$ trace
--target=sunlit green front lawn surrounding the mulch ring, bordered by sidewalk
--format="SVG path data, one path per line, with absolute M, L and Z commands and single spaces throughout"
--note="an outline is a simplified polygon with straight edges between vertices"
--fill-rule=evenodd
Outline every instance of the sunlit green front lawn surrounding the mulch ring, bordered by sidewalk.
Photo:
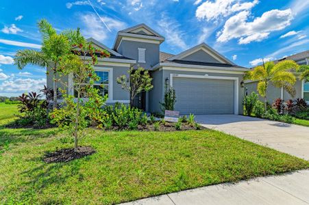
M 218 131 L 89 129 L 80 144 L 97 152 L 47 164 L 45 152 L 73 146 L 70 137 L 57 128 L 0 126 L 0 204 L 115 204 L 309 168 L 308 161 Z

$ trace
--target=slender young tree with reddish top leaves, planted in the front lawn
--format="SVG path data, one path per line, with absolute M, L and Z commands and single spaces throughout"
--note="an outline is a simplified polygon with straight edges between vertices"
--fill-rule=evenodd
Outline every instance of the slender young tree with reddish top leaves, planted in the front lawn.
M 66 55 L 60 61 L 59 72 L 62 75 L 73 73 L 73 84 L 75 96 L 66 94 L 62 90 L 64 103 L 60 109 L 50 113 L 52 122 L 60 128 L 70 131 L 74 136 L 74 150 L 78 151 L 78 139 L 84 129 L 88 126 L 87 118 L 93 111 L 101 109 L 108 96 L 100 96 L 99 90 L 93 87 L 99 77 L 93 66 L 97 64 L 97 57 L 110 57 L 107 51 L 99 51 L 91 43 L 80 35 L 79 29 L 75 35 L 73 53 Z M 86 98 L 86 99 L 85 99 Z

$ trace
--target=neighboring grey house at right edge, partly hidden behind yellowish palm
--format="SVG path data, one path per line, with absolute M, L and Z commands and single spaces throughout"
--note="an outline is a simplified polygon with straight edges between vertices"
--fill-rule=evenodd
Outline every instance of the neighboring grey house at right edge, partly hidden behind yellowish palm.
M 283 61 L 286 59 L 293 60 L 299 65 L 309 65 L 309 51 L 304 51 L 302 53 L 297 53 L 295 55 L 284 57 L 277 61 Z M 273 85 L 269 85 L 267 89 L 268 102 L 273 103 L 273 101 L 277 98 L 282 98 L 283 100 L 304 98 L 309 103 L 309 83 L 301 81 L 299 79 L 298 74 L 295 74 L 295 76 L 297 77 L 297 81 L 294 85 L 296 90 L 296 95 L 294 96 L 294 98 L 290 94 L 288 94 L 283 88 L 278 88 L 274 87 Z M 248 94 L 250 94 L 251 92 L 257 92 L 256 91 L 257 84 L 258 83 L 256 81 L 245 81 L 245 87 L 247 87 Z

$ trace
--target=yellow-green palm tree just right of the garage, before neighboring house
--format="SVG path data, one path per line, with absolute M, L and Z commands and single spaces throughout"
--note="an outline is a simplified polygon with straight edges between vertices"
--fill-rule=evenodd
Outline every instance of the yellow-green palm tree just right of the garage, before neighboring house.
M 298 69 L 295 61 L 285 60 L 275 64 L 273 61 L 256 66 L 253 70 L 246 72 L 245 79 L 258 81 L 258 93 L 264 97 L 265 110 L 267 110 L 267 87 L 271 84 L 275 87 L 283 87 L 288 94 L 295 96 L 295 75 L 291 70 Z

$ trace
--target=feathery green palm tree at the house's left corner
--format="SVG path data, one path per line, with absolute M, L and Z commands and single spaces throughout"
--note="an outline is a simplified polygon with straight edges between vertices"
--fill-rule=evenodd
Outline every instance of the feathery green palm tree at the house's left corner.
M 14 64 L 23 69 L 27 64 L 51 67 L 53 71 L 53 109 L 57 107 L 57 73 L 61 57 L 70 53 L 70 40 L 68 32 L 58 34 L 47 20 L 38 22 L 38 29 L 42 35 L 42 48 L 40 51 L 25 49 L 17 51 Z

